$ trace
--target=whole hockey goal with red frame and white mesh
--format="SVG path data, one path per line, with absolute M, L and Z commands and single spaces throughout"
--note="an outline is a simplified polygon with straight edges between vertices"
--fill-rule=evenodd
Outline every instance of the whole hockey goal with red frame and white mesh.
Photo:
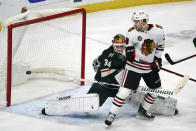
M 0 32 L 0 105 L 30 79 L 84 84 L 84 9 L 27 11 L 6 19 Z

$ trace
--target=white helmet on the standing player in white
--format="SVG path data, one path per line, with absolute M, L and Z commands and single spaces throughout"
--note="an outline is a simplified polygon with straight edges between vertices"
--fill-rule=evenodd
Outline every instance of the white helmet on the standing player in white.
M 133 12 L 132 14 L 132 21 L 134 20 L 139 20 L 139 21 L 143 21 L 143 20 L 146 20 L 146 23 L 148 22 L 149 20 L 149 17 L 148 17 L 148 13 L 146 13 L 145 11 L 135 11 Z

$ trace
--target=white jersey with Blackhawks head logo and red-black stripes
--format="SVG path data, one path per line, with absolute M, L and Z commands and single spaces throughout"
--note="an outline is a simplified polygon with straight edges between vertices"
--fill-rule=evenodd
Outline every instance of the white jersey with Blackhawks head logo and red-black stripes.
M 161 58 L 165 48 L 165 36 L 161 26 L 149 24 L 146 32 L 137 31 L 134 27 L 127 32 L 129 43 L 135 47 L 135 61 L 127 61 L 126 69 L 137 73 L 149 73 L 154 57 Z

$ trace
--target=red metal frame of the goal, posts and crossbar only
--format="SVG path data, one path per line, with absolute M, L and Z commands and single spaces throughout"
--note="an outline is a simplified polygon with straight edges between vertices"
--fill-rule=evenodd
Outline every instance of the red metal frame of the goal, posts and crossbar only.
M 80 85 L 84 85 L 84 79 L 85 79 L 85 43 L 86 43 L 86 11 L 85 9 L 73 9 L 70 11 L 64 11 L 61 13 L 56 13 L 48 16 L 43 16 L 40 18 L 32 19 L 32 20 L 26 20 L 22 22 L 17 22 L 10 24 L 8 29 L 8 39 L 7 39 L 7 92 L 6 92 L 6 106 L 11 106 L 11 87 L 12 87 L 12 33 L 13 29 L 16 27 L 24 26 L 24 25 L 30 25 L 34 23 L 39 23 L 47 20 L 52 20 L 55 18 L 60 18 L 68 15 L 74 15 L 74 14 L 82 14 L 82 49 L 81 49 L 81 79 Z

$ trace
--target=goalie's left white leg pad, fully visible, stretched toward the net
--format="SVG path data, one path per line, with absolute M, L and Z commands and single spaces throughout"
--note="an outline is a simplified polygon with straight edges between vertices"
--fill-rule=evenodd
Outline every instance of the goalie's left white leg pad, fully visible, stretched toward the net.
M 90 112 L 99 109 L 99 95 L 85 94 L 47 100 L 45 113 L 48 115 L 66 115 L 74 112 Z

